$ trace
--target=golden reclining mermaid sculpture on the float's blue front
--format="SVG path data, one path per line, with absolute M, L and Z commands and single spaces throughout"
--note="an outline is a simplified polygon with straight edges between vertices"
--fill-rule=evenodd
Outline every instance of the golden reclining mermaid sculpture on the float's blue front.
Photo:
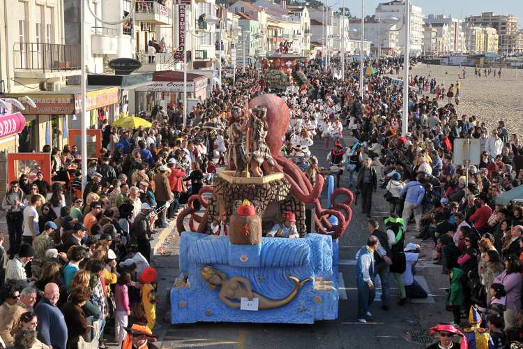
M 258 298 L 259 310 L 275 309 L 289 304 L 294 298 L 296 298 L 300 288 L 305 283 L 312 280 L 312 278 L 307 278 L 299 281 L 296 276 L 285 274 L 285 276 L 287 276 L 287 278 L 289 278 L 294 283 L 293 290 L 285 298 L 269 299 L 253 291 L 250 287 L 250 281 L 248 281 L 248 279 L 242 278 L 241 276 L 232 276 L 231 279 L 227 279 L 225 273 L 222 273 L 219 270 L 210 267 L 209 265 L 203 267 L 200 274 L 202 274 L 202 277 L 206 281 L 207 285 L 209 285 L 211 290 L 215 290 L 218 285 L 221 286 L 218 297 L 222 302 L 227 304 L 227 306 L 231 308 L 239 308 L 239 301 L 242 297 L 246 297 L 248 299 Z M 238 302 L 233 302 L 231 299 L 236 299 Z

